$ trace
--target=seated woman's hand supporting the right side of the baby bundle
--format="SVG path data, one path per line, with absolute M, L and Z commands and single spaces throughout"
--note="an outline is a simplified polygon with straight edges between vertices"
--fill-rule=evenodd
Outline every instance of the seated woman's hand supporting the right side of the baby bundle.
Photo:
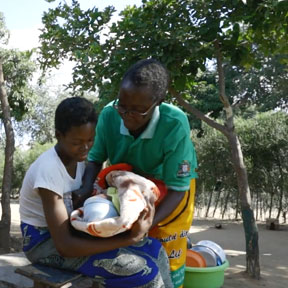
M 132 225 L 129 230 L 129 236 L 131 237 L 131 244 L 135 244 L 142 240 L 148 233 L 155 214 L 155 207 L 150 201 L 147 201 L 147 206 L 141 212 L 138 217 L 138 220 Z

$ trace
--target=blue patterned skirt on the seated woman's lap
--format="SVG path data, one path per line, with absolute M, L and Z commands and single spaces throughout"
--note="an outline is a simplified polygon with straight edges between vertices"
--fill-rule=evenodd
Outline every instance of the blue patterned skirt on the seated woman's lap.
M 23 251 L 32 263 L 77 271 L 101 287 L 173 287 L 167 254 L 154 238 L 89 257 L 66 258 L 57 252 L 46 227 L 21 223 L 21 231 Z

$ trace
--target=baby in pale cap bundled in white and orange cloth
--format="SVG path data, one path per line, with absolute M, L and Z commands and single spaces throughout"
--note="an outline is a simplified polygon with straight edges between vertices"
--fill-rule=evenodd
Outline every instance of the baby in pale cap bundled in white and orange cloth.
M 105 179 L 110 186 L 107 195 L 98 194 L 88 198 L 84 207 L 74 210 L 70 216 L 74 228 L 97 237 L 110 237 L 130 229 L 148 201 L 155 203 L 160 195 L 152 181 L 131 171 L 114 170 Z M 119 206 L 117 195 L 113 200 L 113 194 L 118 195 Z M 115 204 L 112 205 L 112 202 Z M 119 214 L 115 208 L 117 206 Z

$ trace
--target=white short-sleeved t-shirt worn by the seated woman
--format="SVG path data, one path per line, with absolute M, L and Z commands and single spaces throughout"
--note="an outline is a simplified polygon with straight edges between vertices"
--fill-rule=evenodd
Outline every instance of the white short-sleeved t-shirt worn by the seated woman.
M 77 163 L 76 177 L 73 179 L 52 147 L 42 153 L 29 167 L 20 191 L 21 221 L 38 227 L 47 227 L 38 188 L 44 188 L 63 197 L 70 214 L 73 210 L 71 191 L 79 189 L 85 163 Z

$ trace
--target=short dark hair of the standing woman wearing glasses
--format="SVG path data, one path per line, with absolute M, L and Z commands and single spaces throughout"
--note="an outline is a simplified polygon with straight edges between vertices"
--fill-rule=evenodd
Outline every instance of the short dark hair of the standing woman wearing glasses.
M 155 59 L 143 59 L 132 65 L 125 73 L 122 83 L 131 81 L 136 87 L 146 87 L 153 101 L 164 100 L 170 77 L 165 66 Z

